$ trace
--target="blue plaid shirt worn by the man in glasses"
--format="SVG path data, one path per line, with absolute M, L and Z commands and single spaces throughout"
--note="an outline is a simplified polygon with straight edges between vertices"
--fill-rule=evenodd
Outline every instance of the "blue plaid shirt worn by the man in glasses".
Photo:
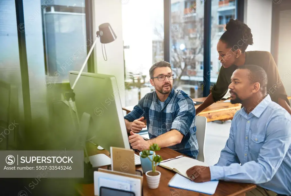
M 171 129 L 183 134 L 181 143 L 169 148 L 192 158 L 197 158 L 195 107 L 192 99 L 182 90 L 172 88 L 168 98 L 161 106 L 156 91 L 147 93 L 134 109 L 124 118 L 132 122 L 142 116 L 146 119 L 150 139 Z

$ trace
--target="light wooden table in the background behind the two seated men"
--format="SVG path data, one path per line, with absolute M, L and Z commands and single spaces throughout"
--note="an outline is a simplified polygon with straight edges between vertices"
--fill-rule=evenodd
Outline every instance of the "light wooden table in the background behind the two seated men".
M 193 99 L 193 101 L 204 101 L 206 97 L 201 97 L 197 99 Z M 207 118 L 207 122 L 215 121 L 215 120 L 231 120 L 235 113 L 240 110 L 242 104 L 231 104 L 230 102 L 224 103 L 222 101 L 217 101 L 211 106 L 205 108 L 202 112 L 200 112 L 199 116 L 205 116 Z M 195 106 L 195 109 L 200 105 Z M 123 107 L 122 109 L 126 111 L 128 114 L 133 110 L 134 106 Z

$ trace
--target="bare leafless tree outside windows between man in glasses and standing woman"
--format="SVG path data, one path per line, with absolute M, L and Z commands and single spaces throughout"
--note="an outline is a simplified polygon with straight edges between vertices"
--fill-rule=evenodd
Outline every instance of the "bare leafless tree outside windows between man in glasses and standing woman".
M 195 18 L 196 16 L 187 16 L 187 20 L 180 22 L 181 18 L 186 15 L 172 15 L 172 24 L 177 23 L 179 26 L 178 31 L 171 31 L 171 64 L 175 80 L 173 87 L 177 88 L 181 83 L 182 76 L 188 76 L 188 70 L 195 70 L 196 65 L 199 63 L 198 56 L 203 56 L 204 46 L 204 18 Z M 215 16 L 214 16 L 215 17 Z M 179 20 L 180 19 L 180 20 Z M 160 27 L 164 29 L 161 24 Z M 211 40 L 214 39 L 217 32 L 217 25 L 212 23 Z M 155 27 L 154 33 L 163 38 L 163 31 L 159 31 L 159 26 Z M 185 45 L 185 50 L 180 50 L 180 45 Z M 184 64 L 184 67 L 182 66 Z

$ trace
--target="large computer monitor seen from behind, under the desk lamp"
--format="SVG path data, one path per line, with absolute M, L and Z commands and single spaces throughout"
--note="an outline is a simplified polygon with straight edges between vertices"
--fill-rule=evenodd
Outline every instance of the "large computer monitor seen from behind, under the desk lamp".
M 70 71 L 70 85 L 79 71 Z M 87 139 L 110 152 L 110 146 L 130 149 L 118 87 L 114 76 L 83 72 L 74 87 L 75 104 L 81 121 L 83 113 L 92 118 Z

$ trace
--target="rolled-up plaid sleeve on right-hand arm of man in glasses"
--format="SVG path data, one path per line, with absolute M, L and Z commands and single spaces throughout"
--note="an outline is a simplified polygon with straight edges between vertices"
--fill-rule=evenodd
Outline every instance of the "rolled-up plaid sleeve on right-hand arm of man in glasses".
M 194 102 L 191 98 L 181 99 L 178 102 L 178 114 L 172 123 L 171 129 L 176 129 L 184 136 L 189 132 L 195 118 L 195 107 Z

